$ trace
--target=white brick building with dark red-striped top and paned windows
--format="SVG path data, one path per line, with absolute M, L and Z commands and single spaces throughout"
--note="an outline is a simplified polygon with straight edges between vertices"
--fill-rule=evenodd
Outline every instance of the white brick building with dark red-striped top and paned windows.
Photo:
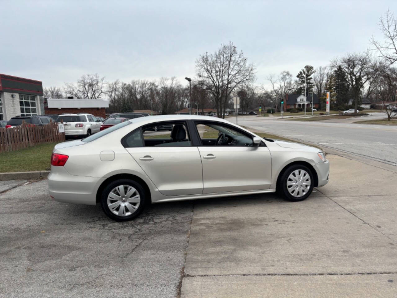
M 43 86 L 41 81 L 0 74 L 0 120 L 23 115 L 42 115 Z

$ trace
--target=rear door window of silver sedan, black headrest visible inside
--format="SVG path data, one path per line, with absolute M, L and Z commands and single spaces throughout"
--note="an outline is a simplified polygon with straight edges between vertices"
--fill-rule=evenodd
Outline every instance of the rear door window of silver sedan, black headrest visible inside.
M 142 128 L 146 147 L 191 146 L 185 122 L 158 122 Z

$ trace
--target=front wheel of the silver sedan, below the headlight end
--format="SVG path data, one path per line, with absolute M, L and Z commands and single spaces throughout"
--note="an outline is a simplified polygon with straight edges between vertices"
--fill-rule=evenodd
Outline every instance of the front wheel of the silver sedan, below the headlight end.
M 289 201 L 302 201 L 312 193 L 313 187 L 312 171 L 303 164 L 295 164 L 281 176 L 279 192 Z

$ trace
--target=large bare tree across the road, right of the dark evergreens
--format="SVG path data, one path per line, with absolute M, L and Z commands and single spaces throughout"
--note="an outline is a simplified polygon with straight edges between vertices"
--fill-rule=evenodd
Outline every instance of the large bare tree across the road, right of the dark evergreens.
M 341 66 L 347 75 L 351 95 L 354 99 L 354 109 L 357 113 L 358 99 L 360 98 L 361 91 L 364 85 L 374 75 L 371 59 L 368 52 L 363 54 L 347 54 L 341 59 L 335 59 L 332 62 L 332 67 L 337 68 Z

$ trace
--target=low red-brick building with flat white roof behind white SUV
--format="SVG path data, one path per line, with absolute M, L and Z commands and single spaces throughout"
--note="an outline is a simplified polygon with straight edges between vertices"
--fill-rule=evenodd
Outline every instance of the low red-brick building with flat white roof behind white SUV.
M 44 104 L 45 114 L 77 114 L 89 113 L 94 116 L 106 118 L 105 109 L 109 101 L 102 99 L 46 99 Z

